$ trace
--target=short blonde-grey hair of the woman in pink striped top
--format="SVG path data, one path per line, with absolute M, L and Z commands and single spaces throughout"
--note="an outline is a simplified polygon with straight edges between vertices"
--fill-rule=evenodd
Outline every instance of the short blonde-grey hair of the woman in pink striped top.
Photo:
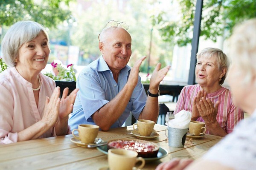
M 216 57 L 218 62 L 218 70 L 221 71 L 223 68 L 228 68 L 229 62 L 227 55 L 223 53 L 221 49 L 218 48 L 204 48 L 202 51 L 198 52 L 196 59 L 204 57 Z M 227 74 L 227 72 L 226 72 Z M 226 74 L 221 78 L 221 81 L 219 82 L 220 85 L 224 83 L 224 80 L 226 79 Z

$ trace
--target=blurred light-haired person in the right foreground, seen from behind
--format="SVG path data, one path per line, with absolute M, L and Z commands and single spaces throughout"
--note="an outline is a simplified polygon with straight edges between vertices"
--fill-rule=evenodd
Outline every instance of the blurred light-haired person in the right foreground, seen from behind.
M 156 170 L 253 170 L 256 167 L 256 19 L 241 23 L 230 37 L 232 64 L 227 81 L 234 104 L 250 114 L 201 159 L 174 159 Z M 202 101 L 200 101 L 202 102 Z M 198 108 L 201 106 L 198 105 Z M 187 166 L 189 165 L 189 166 Z

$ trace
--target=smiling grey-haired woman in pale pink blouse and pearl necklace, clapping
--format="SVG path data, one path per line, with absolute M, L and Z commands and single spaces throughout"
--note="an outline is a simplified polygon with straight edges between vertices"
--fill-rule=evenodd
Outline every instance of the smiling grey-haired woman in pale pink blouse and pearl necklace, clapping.
M 15 23 L 2 41 L 9 66 L 0 74 L 0 144 L 70 134 L 68 115 L 78 89 L 67 96 L 41 73 L 49 57 L 49 37 L 33 21 Z

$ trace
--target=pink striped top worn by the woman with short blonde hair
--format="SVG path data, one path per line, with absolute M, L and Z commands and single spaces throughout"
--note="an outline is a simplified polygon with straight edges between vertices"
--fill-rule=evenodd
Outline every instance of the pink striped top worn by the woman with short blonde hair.
M 183 109 L 185 111 L 192 112 L 193 99 L 200 90 L 200 85 L 185 86 L 180 92 L 174 114 Z M 231 133 L 234 126 L 241 119 L 244 119 L 244 112 L 240 108 L 233 105 L 232 96 L 229 89 L 222 87 L 218 91 L 207 94 L 207 98 L 211 99 L 213 104 L 218 100 L 220 101 L 216 119 L 226 133 Z M 204 122 L 204 119 L 199 117 L 197 121 Z M 209 131 L 207 130 L 206 133 L 209 134 Z

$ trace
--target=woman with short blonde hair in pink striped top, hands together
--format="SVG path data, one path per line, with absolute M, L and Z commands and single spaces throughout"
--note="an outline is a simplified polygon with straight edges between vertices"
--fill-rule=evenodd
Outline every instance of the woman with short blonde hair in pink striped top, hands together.
M 198 84 L 182 89 L 174 114 L 183 109 L 190 111 L 191 120 L 205 122 L 208 134 L 226 136 L 231 133 L 237 122 L 244 118 L 244 112 L 233 105 L 230 90 L 221 86 L 227 68 L 227 56 L 220 49 L 205 48 L 199 52 L 195 67 Z

